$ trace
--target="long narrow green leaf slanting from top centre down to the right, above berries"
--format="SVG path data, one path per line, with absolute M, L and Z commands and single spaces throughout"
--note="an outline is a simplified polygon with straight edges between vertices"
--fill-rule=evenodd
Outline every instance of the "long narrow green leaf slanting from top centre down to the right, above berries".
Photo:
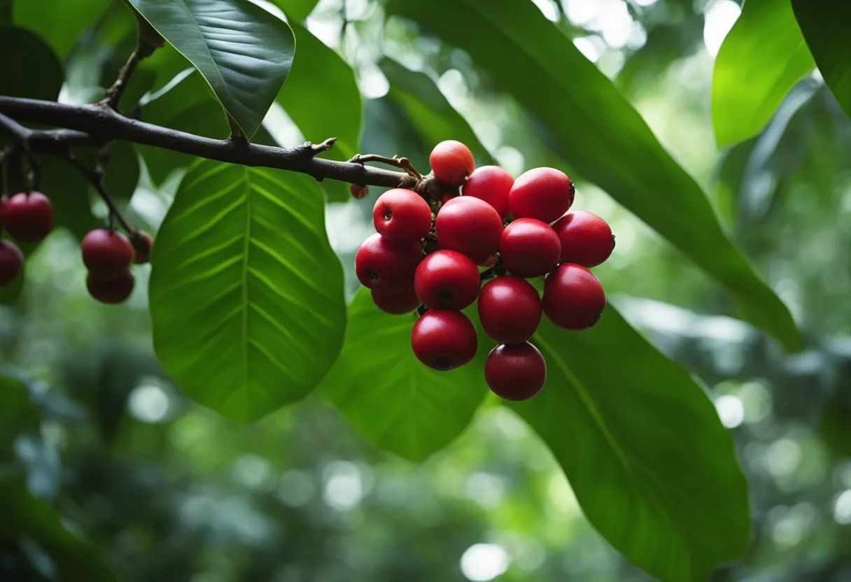
M 800 346 L 789 311 L 730 241 L 694 178 L 671 158 L 608 78 L 534 3 L 391 0 L 387 7 L 469 52 L 477 65 L 551 128 L 563 157 L 579 174 L 722 282 L 751 322 L 787 348 Z

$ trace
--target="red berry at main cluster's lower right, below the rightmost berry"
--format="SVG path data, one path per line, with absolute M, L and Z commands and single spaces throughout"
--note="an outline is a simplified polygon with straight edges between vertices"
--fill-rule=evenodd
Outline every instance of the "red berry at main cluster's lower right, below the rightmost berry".
M 606 292 L 584 266 L 562 263 L 547 275 L 541 304 L 545 316 L 559 328 L 591 328 L 603 315 Z

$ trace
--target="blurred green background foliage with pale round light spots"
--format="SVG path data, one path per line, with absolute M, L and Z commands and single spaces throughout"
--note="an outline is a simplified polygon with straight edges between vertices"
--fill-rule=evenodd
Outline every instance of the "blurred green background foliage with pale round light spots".
M 15 23 L 39 31 L 63 60 L 61 100 L 95 100 L 132 47 L 133 20 L 117 3 L 64 2 L 74 5 L 72 22 L 30 1 L 16 4 Z M 617 235 L 597 270 L 613 303 L 705 382 L 733 431 L 753 536 L 714 579 L 851 579 L 851 122 L 816 72 L 761 134 L 719 151 L 712 66 L 738 3 L 535 3 L 710 194 L 805 338 L 805 351 L 787 355 L 730 317 L 717 284 L 605 192 L 578 183 L 577 207 L 605 217 Z M 563 166 L 545 128 L 467 54 L 407 20 L 386 20 L 382 3 L 278 4 L 310 14 L 306 29 L 357 71 L 361 151 L 426 168 L 431 145 L 455 137 L 480 163 L 493 159 L 515 175 Z M 180 72 L 168 68 L 168 54 L 155 58 L 163 62 L 140 70 L 137 95 Z M 400 64 L 421 78 L 395 81 Z M 191 77 L 180 81 L 183 93 L 166 94 L 171 105 L 157 107 L 167 97 L 148 93 L 143 111 L 157 123 L 225 132 L 210 121 L 219 111 L 188 105 L 205 97 Z M 300 143 L 299 106 L 281 105 L 261 140 Z M 473 134 L 446 134 L 459 127 L 453 116 Z M 156 230 L 185 163 L 170 153 L 140 158 L 139 185 L 123 195 L 136 223 Z M 136 171 L 130 159 L 114 180 L 135 183 Z M 353 254 L 372 229 L 378 194 L 328 207 L 350 294 Z M 94 581 L 111 579 L 109 569 L 140 582 L 649 579 L 585 522 L 551 454 L 509 409 L 488 401 L 423 465 L 380 453 L 316 395 L 254 425 L 231 423 L 187 402 L 159 368 L 146 271 L 137 271 L 126 305 L 96 304 L 78 252 L 73 233 L 55 233 L 27 261 L 20 297 L 0 308 L 0 524 L 15 533 L 0 545 L 0 579 Z M 26 488 L 13 471 L 20 466 Z

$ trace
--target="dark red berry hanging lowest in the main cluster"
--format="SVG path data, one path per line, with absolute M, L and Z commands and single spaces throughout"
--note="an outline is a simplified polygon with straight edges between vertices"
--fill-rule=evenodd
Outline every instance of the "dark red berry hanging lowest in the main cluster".
M 546 383 L 546 362 L 532 344 L 497 345 L 484 362 L 490 390 L 505 400 L 528 400 Z

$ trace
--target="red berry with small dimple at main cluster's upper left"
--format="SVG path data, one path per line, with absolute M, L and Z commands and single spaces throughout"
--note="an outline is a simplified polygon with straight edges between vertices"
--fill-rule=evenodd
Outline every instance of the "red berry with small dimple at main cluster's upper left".
M 413 190 L 394 188 L 375 201 L 373 224 L 388 241 L 419 241 L 431 229 L 431 208 Z

